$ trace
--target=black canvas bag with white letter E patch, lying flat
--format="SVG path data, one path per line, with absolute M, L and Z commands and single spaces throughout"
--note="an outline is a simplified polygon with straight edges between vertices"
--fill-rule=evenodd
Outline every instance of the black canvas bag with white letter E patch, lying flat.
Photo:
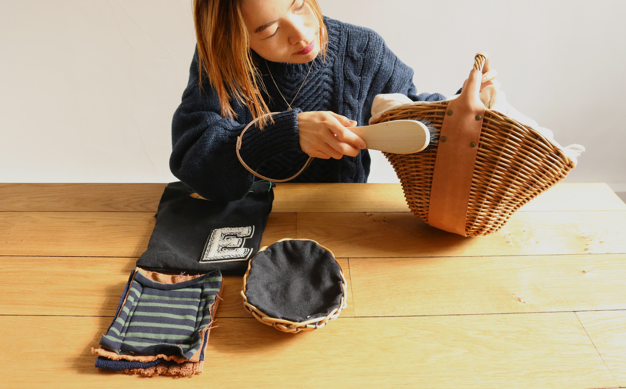
M 255 182 L 241 200 L 196 199 L 182 182 L 165 187 L 148 249 L 136 266 L 242 275 L 261 245 L 275 184 Z

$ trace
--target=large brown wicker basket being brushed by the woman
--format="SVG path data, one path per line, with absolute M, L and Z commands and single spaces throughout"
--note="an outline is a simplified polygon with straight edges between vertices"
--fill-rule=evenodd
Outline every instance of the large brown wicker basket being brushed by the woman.
M 475 70 L 470 73 L 468 85 L 456 100 L 390 110 L 372 124 L 399 119 L 428 120 L 441 133 L 444 119 L 452 113 L 451 106 L 454 101 L 459 100 L 456 102 L 455 112 L 459 109 L 458 105 L 463 103 L 461 100 L 464 94 L 466 94 L 466 100 L 471 98 L 480 103 L 478 90 L 481 74 L 488 68 L 487 59 L 486 53 L 476 54 Z M 472 81 L 475 81 L 473 85 L 471 85 Z M 470 94 L 471 96 L 468 96 Z M 475 116 L 472 113 L 469 120 L 478 121 L 479 116 L 480 113 Z M 478 142 L 466 142 L 467 145 L 464 145 L 464 147 L 469 147 L 469 143 L 471 143 L 476 148 L 473 170 L 471 168 L 468 170 L 468 187 L 459 189 L 465 192 L 469 189 L 469 199 L 464 203 L 467 204 L 464 234 L 462 215 L 458 221 L 460 230 L 457 231 L 440 227 L 438 223 L 434 223 L 432 212 L 429 220 L 429 206 L 431 202 L 436 200 L 434 195 L 431 199 L 433 177 L 437 179 L 438 174 L 435 169 L 435 162 L 437 158 L 443 158 L 443 153 L 439 149 L 448 147 L 451 142 L 442 142 L 445 138 L 440 134 L 439 143 L 422 152 L 414 154 L 384 153 L 402 183 L 404 197 L 406 197 L 411 212 L 435 227 L 464 236 L 487 235 L 498 231 L 506 224 L 513 212 L 546 189 L 565 179 L 565 176 L 574 167 L 560 148 L 555 147 L 533 128 L 525 127 L 506 117 L 506 115 L 493 110 L 485 109 L 482 117 L 482 124 L 476 132 Z M 454 130 L 458 129 L 449 129 L 448 134 Z M 448 135 L 447 138 L 450 137 L 451 135 Z M 476 145 L 476 143 L 478 144 Z M 448 153 L 444 157 L 450 158 L 450 155 Z M 441 179 L 441 177 L 439 178 Z M 469 188 L 470 178 L 471 188 Z M 448 188 L 448 190 L 453 189 Z M 439 195 L 438 192 L 438 196 L 443 195 Z M 441 205 L 441 207 L 445 210 L 446 204 Z

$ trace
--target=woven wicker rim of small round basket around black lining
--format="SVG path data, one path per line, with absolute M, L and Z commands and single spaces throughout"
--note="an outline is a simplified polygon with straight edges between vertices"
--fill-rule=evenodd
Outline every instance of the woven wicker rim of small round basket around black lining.
M 284 242 L 284 241 L 310 241 L 310 239 L 286 238 L 286 239 L 280 239 L 280 241 L 278 242 Z M 329 252 L 332 258 L 334 259 L 334 254 L 332 254 L 332 251 L 322 246 L 321 244 L 317 243 L 316 241 L 311 241 L 311 242 L 314 242 L 317 246 Z M 259 252 L 265 251 L 268 247 L 269 246 L 262 247 L 262 249 L 260 249 Z M 259 253 L 257 253 L 257 256 L 258 255 Z M 295 323 L 294 321 L 289 321 L 285 319 L 277 319 L 277 318 L 269 317 L 267 314 L 263 313 L 259 308 L 250 304 L 248 302 L 247 296 L 245 295 L 246 290 L 247 290 L 247 279 L 250 274 L 250 267 L 252 266 L 252 262 L 254 261 L 255 257 L 250 259 L 250 262 L 248 264 L 248 270 L 244 274 L 244 289 L 241 291 L 241 295 L 244 298 L 245 310 L 248 311 L 250 314 L 252 314 L 252 316 L 254 316 L 261 323 L 267 324 L 268 326 L 273 326 L 275 329 L 278 329 L 279 331 L 292 333 L 292 334 L 299 333 L 300 331 L 314 331 L 317 328 L 322 328 L 323 326 L 325 326 L 329 320 L 334 320 L 338 318 L 341 311 L 344 308 L 346 308 L 347 306 L 347 299 L 346 299 L 347 282 L 346 282 L 346 277 L 344 276 L 344 272 L 341 269 L 341 265 L 339 265 L 339 262 L 337 262 L 337 265 L 339 266 L 339 276 L 341 277 L 341 289 L 342 289 L 341 300 L 337 308 L 332 309 L 332 311 L 330 311 L 330 313 L 328 314 L 324 314 L 323 316 L 314 315 L 317 317 L 309 319 L 307 321 L 302 321 L 300 323 Z

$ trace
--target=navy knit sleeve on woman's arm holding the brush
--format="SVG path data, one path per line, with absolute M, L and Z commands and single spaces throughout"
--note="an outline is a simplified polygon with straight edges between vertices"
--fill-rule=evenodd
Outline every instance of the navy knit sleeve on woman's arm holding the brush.
M 210 83 L 198 86 L 198 56 L 193 56 L 189 82 L 182 103 L 172 120 L 172 174 L 209 200 L 241 199 L 255 177 L 237 158 L 237 137 L 252 121 L 247 108 L 233 103 L 239 114 L 234 120 L 220 115 L 220 100 Z M 274 115 L 274 123 L 262 131 L 250 127 L 242 140 L 240 155 L 253 170 L 272 157 L 300 150 L 297 114 L 300 110 Z M 259 172 L 262 174 L 262 172 Z

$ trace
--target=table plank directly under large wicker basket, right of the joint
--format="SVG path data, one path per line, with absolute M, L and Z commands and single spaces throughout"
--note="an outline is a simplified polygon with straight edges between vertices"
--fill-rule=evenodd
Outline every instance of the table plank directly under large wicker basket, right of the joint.
M 298 213 L 297 237 L 338 257 L 441 257 L 626 252 L 626 211 L 519 212 L 489 236 L 462 237 L 404 212 Z

